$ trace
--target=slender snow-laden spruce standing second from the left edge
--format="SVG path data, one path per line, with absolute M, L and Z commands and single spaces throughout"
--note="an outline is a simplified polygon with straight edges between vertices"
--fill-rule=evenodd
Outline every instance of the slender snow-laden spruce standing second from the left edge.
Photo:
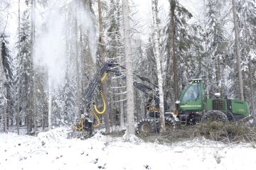
M 32 59 L 31 59 L 31 22 L 29 21 L 29 11 L 24 11 L 21 17 L 21 28 L 18 35 L 17 48 L 19 52 L 16 56 L 16 91 L 17 91 L 17 102 L 19 103 L 18 111 L 21 113 L 21 121 L 26 122 L 29 126 L 28 121 L 28 106 L 29 106 L 29 94 L 31 93 L 31 82 L 32 77 Z M 25 115 L 26 114 L 26 115 Z M 26 119 L 26 120 L 25 120 Z M 31 128 L 29 128 L 31 129 Z

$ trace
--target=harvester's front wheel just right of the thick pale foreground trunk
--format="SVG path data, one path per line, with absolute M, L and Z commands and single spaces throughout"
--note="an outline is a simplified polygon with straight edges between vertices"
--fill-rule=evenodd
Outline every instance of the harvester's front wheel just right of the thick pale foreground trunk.
M 137 125 L 137 133 L 150 134 L 156 132 L 156 120 L 149 118 L 140 120 Z

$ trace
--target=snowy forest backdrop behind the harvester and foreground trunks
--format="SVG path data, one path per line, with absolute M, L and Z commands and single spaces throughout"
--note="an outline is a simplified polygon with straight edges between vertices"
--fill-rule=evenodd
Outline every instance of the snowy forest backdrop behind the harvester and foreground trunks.
M 129 1 L 132 64 L 134 72 L 158 84 L 150 8 L 151 1 Z M 158 1 L 159 53 L 169 111 L 195 78 L 203 79 L 207 97 L 220 92 L 240 98 L 232 9 L 231 0 Z M 253 111 L 256 2 L 237 0 L 235 9 L 242 96 Z M 120 0 L 1 0 L 1 130 L 16 127 L 19 133 L 26 127 L 31 133 L 38 127 L 74 124 L 85 112 L 85 90 L 102 63 L 124 64 L 122 22 Z M 111 75 L 106 86 L 108 111 L 102 127 L 124 126 L 126 84 Z M 146 117 L 147 97 L 134 89 L 135 121 Z M 96 91 L 93 101 L 100 100 Z

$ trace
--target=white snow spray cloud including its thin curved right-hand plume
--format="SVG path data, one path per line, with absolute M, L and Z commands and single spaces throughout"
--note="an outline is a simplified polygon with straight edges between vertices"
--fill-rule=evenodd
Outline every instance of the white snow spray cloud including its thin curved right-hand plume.
M 36 40 L 34 62 L 36 66 L 46 66 L 48 68 L 49 81 L 53 86 L 63 82 L 65 77 L 65 67 L 67 62 L 67 51 L 65 45 L 65 13 L 62 11 L 65 6 L 73 4 L 70 1 L 52 0 L 48 1 L 46 11 L 43 11 L 43 28 L 41 35 Z M 78 16 L 78 24 L 82 33 L 87 35 L 92 59 L 96 62 L 97 36 L 95 26 L 90 13 L 82 7 L 72 5 L 72 15 Z

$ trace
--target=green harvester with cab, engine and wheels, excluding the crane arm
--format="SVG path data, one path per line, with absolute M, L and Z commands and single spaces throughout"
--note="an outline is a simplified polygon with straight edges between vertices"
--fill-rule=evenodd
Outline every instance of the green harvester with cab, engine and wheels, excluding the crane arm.
M 165 126 L 168 130 L 174 123 L 195 125 L 208 120 L 238 121 L 250 115 L 250 108 L 245 101 L 228 99 L 216 93 L 213 98 L 203 94 L 202 79 L 193 79 L 186 86 L 175 103 L 172 113 L 165 111 Z M 159 111 L 149 112 L 149 118 L 140 120 L 137 132 L 159 131 Z

